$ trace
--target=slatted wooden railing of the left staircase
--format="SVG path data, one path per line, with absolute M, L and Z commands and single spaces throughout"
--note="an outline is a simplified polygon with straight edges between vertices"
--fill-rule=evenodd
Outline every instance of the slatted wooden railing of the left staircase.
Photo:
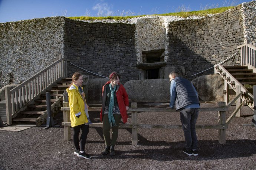
M 60 58 L 12 90 L 8 87 L 5 89 L 8 125 L 12 124 L 12 116 L 15 117 L 15 114 L 20 109 L 24 108 L 24 106 L 40 95 L 41 92 L 45 91 L 55 81 L 67 76 L 67 71 L 64 69 L 66 65 L 67 61 Z

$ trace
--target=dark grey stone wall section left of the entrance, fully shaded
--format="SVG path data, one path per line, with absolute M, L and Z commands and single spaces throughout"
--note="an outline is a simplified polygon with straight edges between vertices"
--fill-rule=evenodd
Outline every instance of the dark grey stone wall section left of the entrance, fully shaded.
M 79 67 L 108 77 L 112 71 L 121 82 L 138 79 L 135 24 L 87 23 L 65 19 L 65 58 Z M 79 71 L 90 78 L 102 78 L 69 65 L 69 76 Z

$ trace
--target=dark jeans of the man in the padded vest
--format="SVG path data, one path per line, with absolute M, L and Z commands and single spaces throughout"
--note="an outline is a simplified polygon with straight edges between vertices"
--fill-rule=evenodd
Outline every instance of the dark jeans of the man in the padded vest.
M 184 109 L 180 110 L 180 120 L 182 123 L 182 129 L 184 131 L 186 149 L 197 149 L 197 137 L 196 137 L 196 119 L 198 117 L 198 109 Z

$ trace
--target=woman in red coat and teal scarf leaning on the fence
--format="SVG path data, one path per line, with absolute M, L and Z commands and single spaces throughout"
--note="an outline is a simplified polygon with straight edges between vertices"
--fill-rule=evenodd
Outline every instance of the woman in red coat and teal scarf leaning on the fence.
M 127 112 L 129 109 L 129 100 L 127 92 L 123 85 L 119 83 L 120 75 L 112 72 L 109 75 L 109 81 L 102 87 L 102 108 L 101 122 L 103 121 L 103 135 L 105 140 L 105 149 L 103 155 L 115 156 L 114 146 L 118 138 L 118 126 L 122 118 L 127 122 Z M 112 128 L 112 137 L 110 142 L 110 128 Z

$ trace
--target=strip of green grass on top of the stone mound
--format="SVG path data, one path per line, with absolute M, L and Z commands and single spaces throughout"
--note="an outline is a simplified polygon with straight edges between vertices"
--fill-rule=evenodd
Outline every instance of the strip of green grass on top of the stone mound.
M 220 8 L 212 8 L 207 10 L 200 10 L 200 11 L 181 11 L 177 13 L 167 13 L 167 14 L 152 14 L 152 16 L 180 16 L 180 17 L 189 17 L 189 16 L 206 16 L 207 14 L 217 14 L 222 13 L 226 10 L 232 9 L 233 6 L 230 7 L 220 7 Z M 126 20 L 128 18 L 135 18 L 135 17 L 144 17 L 146 15 L 141 16 L 107 16 L 107 17 L 89 17 L 89 16 L 81 16 L 81 17 L 67 17 L 72 20 Z

